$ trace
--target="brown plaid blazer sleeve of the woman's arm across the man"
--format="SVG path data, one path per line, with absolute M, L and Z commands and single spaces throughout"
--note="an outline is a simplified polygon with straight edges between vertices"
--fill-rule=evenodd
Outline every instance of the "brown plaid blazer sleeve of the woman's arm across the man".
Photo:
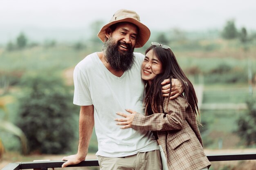
M 183 128 L 186 119 L 186 108 L 188 104 L 182 97 L 164 102 L 165 113 L 154 113 L 153 115 L 144 116 L 139 113 L 135 114 L 132 121 L 132 128 L 135 130 L 180 130 Z M 166 108 L 166 109 L 165 109 Z

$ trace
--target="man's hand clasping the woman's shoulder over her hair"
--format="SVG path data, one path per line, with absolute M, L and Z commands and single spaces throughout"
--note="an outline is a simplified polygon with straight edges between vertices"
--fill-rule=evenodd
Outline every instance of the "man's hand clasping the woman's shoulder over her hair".
M 170 79 L 165 79 L 162 83 L 162 93 L 163 97 L 168 97 L 170 93 Z M 172 88 L 170 100 L 178 97 L 184 90 L 183 85 L 178 79 L 172 79 Z

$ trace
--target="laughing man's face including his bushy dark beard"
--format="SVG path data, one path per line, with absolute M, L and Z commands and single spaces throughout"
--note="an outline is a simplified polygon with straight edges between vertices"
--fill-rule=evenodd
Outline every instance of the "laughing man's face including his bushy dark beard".
M 137 38 L 137 27 L 133 24 L 119 24 L 103 44 L 105 59 L 116 71 L 126 71 L 134 62 L 133 51 Z

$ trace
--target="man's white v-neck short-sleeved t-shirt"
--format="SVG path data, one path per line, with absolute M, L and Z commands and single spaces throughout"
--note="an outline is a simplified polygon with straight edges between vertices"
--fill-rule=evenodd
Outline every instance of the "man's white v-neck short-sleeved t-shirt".
M 74 104 L 94 105 L 95 132 L 98 152 L 103 157 L 125 157 L 137 152 L 159 149 L 150 131 L 120 129 L 115 118 L 126 108 L 144 113 L 144 84 L 141 80 L 141 62 L 144 55 L 135 54 L 135 62 L 121 77 L 113 75 L 97 53 L 85 57 L 74 69 Z M 127 113 L 130 114 L 130 113 Z

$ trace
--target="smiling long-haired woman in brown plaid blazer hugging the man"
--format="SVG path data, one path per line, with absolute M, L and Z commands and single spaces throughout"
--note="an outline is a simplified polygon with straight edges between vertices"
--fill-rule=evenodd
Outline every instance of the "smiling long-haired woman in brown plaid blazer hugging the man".
M 207 170 L 211 163 L 204 154 L 196 122 L 199 112 L 195 90 L 170 47 L 151 43 L 141 64 L 141 78 L 146 84 L 145 116 L 126 109 L 132 114 L 117 113 L 125 117 L 115 119 L 117 125 L 152 130 L 164 150 L 168 170 Z M 186 87 L 184 95 L 173 100 L 162 97 L 161 82 L 166 78 L 179 79 Z

